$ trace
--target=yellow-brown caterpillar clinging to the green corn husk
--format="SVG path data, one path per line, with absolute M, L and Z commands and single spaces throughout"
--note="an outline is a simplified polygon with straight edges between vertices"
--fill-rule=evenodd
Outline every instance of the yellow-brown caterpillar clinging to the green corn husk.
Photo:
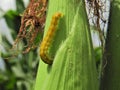
M 59 19 L 62 16 L 63 16 L 63 14 L 59 13 L 59 12 L 55 13 L 52 16 L 52 20 L 51 20 L 50 26 L 48 28 L 47 34 L 43 38 L 43 41 L 40 45 L 40 57 L 43 60 L 43 62 L 45 62 L 49 65 L 51 65 L 53 63 L 53 59 L 48 55 L 47 51 L 48 51 L 49 46 L 52 43 L 52 39 L 54 38 Z

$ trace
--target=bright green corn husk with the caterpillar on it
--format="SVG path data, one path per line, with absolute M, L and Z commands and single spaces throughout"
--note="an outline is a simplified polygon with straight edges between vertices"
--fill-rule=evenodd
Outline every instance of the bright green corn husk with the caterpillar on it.
M 49 52 L 55 54 L 53 64 L 40 61 L 35 90 L 98 90 L 84 2 L 50 0 L 48 9 L 45 31 L 55 12 L 62 12 L 64 17 Z

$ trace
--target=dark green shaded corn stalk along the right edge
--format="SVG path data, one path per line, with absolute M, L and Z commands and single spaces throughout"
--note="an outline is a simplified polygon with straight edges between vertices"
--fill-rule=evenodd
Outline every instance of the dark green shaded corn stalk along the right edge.
M 120 90 L 120 0 L 111 1 L 101 90 Z

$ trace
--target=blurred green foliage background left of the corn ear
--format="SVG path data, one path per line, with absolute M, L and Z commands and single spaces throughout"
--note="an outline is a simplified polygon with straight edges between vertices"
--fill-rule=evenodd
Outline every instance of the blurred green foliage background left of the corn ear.
M 17 50 L 12 45 L 19 32 L 21 17 L 29 0 L 4 0 L 0 3 L 0 90 L 33 90 L 37 67 L 37 50 L 22 54 L 24 42 Z

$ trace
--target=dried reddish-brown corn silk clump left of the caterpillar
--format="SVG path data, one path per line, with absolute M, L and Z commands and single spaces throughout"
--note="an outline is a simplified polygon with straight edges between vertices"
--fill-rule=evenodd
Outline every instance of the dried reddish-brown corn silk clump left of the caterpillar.
M 34 43 L 38 34 L 43 33 L 44 23 L 46 20 L 47 0 L 31 0 L 28 7 L 23 13 L 21 27 L 13 48 L 20 40 L 26 40 L 27 45 L 23 53 L 29 52 L 38 45 Z

